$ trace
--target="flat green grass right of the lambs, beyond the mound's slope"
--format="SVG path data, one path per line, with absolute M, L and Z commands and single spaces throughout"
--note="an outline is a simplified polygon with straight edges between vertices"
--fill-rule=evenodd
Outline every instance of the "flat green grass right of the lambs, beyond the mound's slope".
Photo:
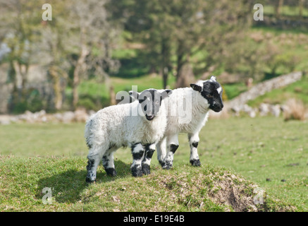
M 210 120 L 203 131 L 210 132 L 203 133 L 198 146 L 202 162 L 230 167 L 277 198 L 308 210 L 307 121 Z

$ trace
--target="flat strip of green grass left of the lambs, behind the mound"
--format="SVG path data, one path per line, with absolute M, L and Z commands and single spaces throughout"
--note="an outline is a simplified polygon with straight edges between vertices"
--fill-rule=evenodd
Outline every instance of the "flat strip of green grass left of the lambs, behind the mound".
M 0 126 L 0 153 L 16 157 L 85 155 L 84 124 L 11 124 Z

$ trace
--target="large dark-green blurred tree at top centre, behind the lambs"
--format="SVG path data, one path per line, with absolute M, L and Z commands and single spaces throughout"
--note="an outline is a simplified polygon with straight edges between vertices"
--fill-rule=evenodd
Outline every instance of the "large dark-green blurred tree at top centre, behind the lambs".
M 177 81 L 183 80 L 185 64 L 199 71 L 222 66 L 228 44 L 238 42 L 240 30 L 250 25 L 253 6 L 227 0 L 121 0 L 119 5 L 111 10 L 122 11 L 125 29 L 146 44 L 149 56 L 157 56 L 164 87 L 173 69 Z

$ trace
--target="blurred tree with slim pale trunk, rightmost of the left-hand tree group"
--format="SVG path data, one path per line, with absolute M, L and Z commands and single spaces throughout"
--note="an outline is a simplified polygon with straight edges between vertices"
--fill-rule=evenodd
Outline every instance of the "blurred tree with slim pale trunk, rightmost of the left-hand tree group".
M 116 46 L 116 36 L 120 29 L 109 23 L 105 4 L 106 0 L 79 0 L 73 1 L 67 8 L 71 26 L 67 44 L 70 52 L 76 56 L 70 58 L 74 65 L 74 108 L 78 105 L 78 85 L 82 74 L 92 69 L 96 76 L 108 81 L 106 71 L 118 67 L 116 60 L 111 57 L 111 51 Z

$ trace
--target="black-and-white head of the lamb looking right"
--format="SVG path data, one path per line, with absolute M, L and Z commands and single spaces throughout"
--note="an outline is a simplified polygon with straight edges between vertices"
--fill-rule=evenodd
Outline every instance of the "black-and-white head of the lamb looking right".
M 212 109 L 214 112 L 220 112 L 223 109 L 223 88 L 216 81 L 214 76 L 210 80 L 204 81 L 203 86 L 196 84 L 190 84 L 190 86 L 201 93 L 202 97 L 207 99 L 209 103 L 209 109 Z

